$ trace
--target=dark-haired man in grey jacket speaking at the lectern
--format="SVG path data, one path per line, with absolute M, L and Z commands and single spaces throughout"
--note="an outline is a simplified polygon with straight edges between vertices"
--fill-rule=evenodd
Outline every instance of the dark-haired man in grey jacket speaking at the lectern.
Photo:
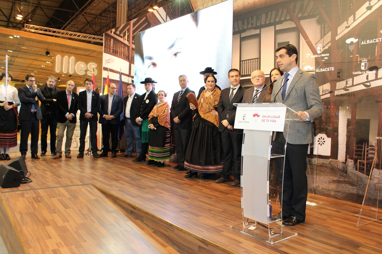
M 279 216 L 284 219 L 283 225 L 294 226 L 305 222 L 308 145 L 312 142 L 312 122 L 321 116 L 323 107 L 316 75 L 303 72 L 297 66 L 297 48 L 291 44 L 279 47 L 276 49 L 276 58 L 284 76 L 275 82 L 272 101 L 297 111 L 295 115 L 302 120 L 285 124 L 284 132 L 278 132 L 274 141 L 274 153 L 280 153 L 288 133 L 284 165 L 283 159 L 275 162 L 279 189 L 283 190 L 282 214 Z

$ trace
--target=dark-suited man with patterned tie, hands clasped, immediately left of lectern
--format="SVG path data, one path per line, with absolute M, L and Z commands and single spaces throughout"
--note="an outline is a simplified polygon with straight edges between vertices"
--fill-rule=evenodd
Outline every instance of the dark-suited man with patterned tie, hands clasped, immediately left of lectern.
M 235 122 L 236 106 L 233 103 L 240 103 L 243 100 L 244 89 L 240 86 L 240 72 L 237 69 L 228 71 L 228 80 L 231 87 L 223 89 L 220 93 L 217 112 L 220 124 L 219 132 L 222 133 L 223 146 L 223 172 L 222 177 L 215 183 L 224 183 L 230 180 L 232 162 L 234 162 L 234 181 L 232 186 L 240 185 L 240 165 L 241 165 L 241 145 L 243 143 L 243 130 L 233 129 Z

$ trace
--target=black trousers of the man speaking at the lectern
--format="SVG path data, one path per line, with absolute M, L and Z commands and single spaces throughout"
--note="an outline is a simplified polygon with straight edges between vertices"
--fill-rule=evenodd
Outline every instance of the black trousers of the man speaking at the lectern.
M 282 154 L 283 144 L 285 144 L 283 133 L 278 132 L 274 141 L 274 153 Z M 306 177 L 308 145 L 287 143 L 285 162 L 283 158 L 275 159 L 278 188 L 282 190 L 280 200 L 282 200 L 283 216 L 294 215 L 298 220 L 305 220 L 308 196 L 308 179 Z

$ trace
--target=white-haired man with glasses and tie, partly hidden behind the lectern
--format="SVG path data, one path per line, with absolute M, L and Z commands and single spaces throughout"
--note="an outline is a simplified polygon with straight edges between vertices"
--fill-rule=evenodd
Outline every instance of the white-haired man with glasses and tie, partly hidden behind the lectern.
M 264 87 L 266 87 L 264 72 L 260 70 L 252 72 L 251 82 L 253 84 L 253 87 L 248 88 L 244 91 L 242 103 L 270 102 L 270 98 L 272 95 L 268 93 L 268 89 L 264 89 L 263 91 L 261 91 Z

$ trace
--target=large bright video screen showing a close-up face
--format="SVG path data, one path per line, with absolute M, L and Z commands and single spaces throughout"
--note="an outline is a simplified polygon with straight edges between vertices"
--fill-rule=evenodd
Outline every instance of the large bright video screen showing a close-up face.
M 188 77 L 188 87 L 196 94 L 204 85 L 199 72 L 211 67 L 218 74 L 217 85 L 226 88 L 227 72 L 232 64 L 232 1 L 210 6 L 168 21 L 136 35 L 134 83 L 137 93 L 144 93 L 139 82 L 151 77 L 155 91 L 173 94 L 180 90 L 178 77 Z

